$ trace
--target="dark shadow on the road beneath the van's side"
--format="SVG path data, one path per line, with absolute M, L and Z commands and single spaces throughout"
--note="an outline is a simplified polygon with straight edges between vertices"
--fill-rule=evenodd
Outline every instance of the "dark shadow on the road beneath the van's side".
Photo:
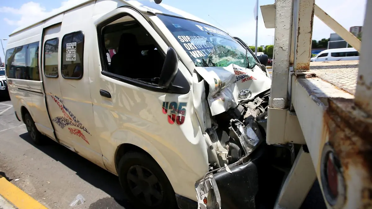
M 89 209 L 98 209 L 103 207 L 108 207 L 110 209 L 119 209 L 122 207 L 124 207 L 125 209 L 133 208 L 125 199 L 125 194 L 123 193 L 122 188 L 119 184 L 119 179 L 114 174 L 109 173 L 108 171 L 93 164 L 89 160 L 86 160 L 85 158 L 81 157 L 75 152 L 72 152 L 70 149 L 65 148 L 64 146 L 58 144 L 53 140 L 47 140 L 45 145 L 37 146 L 33 144 L 32 139 L 30 138 L 28 133 L 21 134 L 19 136 L 35 148 L 49 155 L 49 157 L 61 162 L 71 170 L 74 170 L 76 174 L 84 181 L 87 181 L 94 187 L 101 189 L 103 192 L 106 192 L 111 196 L 92 203 Z

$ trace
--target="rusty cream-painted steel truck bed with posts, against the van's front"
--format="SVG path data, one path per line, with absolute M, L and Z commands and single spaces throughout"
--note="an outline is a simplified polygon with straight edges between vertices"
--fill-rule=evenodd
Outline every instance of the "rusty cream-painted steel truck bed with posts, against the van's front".
M 303 147 L 275 208 L 300 208 L 316 178 L 327 208 L 370 208 L 372 1 L 362 44 L 314 0 L 276 0 L 261 10 L 266 28 L 275 28 L 266 141 Z M 310 64 L 314 15 L 360 52 L 359 71 L 358 61 Z

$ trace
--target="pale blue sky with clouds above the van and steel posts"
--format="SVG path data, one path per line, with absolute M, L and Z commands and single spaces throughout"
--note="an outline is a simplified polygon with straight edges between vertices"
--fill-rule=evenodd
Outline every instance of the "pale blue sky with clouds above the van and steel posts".
M 19 26 L 39 20 L 61 6 L 75 4 L 78 0 L 12 0 L 0 1 L 0 39 L 7 39 Z M 351 26 L 362 26 L 367 0 L 315 0 L 328 15 L 349 30 Z M 275 0 L 259 0 L 259 5 L 273 4 Z M 192 15 L 214 24 L 232 36 L 241 38 L 248 45 L 255 44 L 256 20 L 254 6 L 256 0 L 163 0 Z M 314 17 L 312 39 L 329 38 L 333 31 L 321 20 Z M 273 44 L 274 29 L 266 29 L 259 10 L 258 45 Z M 2 41 L 6 50 L 7 41 Z M 1 60 L 4 54 L 0 52 Z

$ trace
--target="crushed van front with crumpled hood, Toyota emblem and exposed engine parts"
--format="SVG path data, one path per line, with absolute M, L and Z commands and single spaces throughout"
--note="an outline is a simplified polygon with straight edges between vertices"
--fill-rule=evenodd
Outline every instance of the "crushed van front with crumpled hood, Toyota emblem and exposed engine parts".
M 206 139 L 210 169 L 237 163 L 265 140 L 271 86 L 265 70 L 263 65 L 248 69 L 234 64 L 196 68 L 194 87 L 203 85 L 202 101 L 209 105 L 202 106 L 202 122 L 210 139 Z

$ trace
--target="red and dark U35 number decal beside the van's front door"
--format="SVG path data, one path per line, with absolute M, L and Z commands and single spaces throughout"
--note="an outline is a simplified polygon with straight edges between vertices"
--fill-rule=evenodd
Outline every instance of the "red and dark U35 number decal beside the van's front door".
M 168 122 L 182 125 L 185 122 L 186 106 L 187 102 L 163 102 L 163 113 L 168 116 Z

